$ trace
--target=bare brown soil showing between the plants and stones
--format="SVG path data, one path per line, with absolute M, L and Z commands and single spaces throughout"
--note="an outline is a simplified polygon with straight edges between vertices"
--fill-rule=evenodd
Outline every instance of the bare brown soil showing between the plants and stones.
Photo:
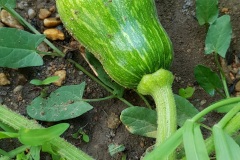
M 27 6 L 17 11 L 26 19 L 27 11 L 33 8 L 37 13 L 41 8 L 51 8 L 55 5 L 53 0 L 33 1 L 33 0 L 18 0 L 26 2 Z M 172 65 L 172 72 L 175 75 L 173 84 L 174 93 L 178 93 L 180 88 L 187 86 L 195 87 L 196 91 L 190 101 L 199 109 L 202 110 L 209 104 L 218 100 L 220 97 L 210 97 L 207 95 L 196 83 L 193 75 L 193 69 L 198 64 L 215 68 L 212 56 L 204 55 L 204 41 L 206 37 L 206 27 L 199 26 L 195 17 L 195 1 L 194 0 L 156 0 L 156 6 L 160 21 L 166 31 L 168 32 L 173 46 L 174 46 L 174 62 Z M 234 32 L 234 43 L 231 50 L 234 53 L 240 53 L 240 3 L 239 0 L 220 0 L 220 10 L 228 8 L 231 16 Z M 220 13 L 223 14 L 223 13 Z M 52 16 L 55 16 L 54 14 Z M 42 20 L 37 16 L 28 21 L 36 27 L 41 33 L 44 30 Z M 62 29 L 66 35 L 63 41 L 54 41 L 53 43 L 60 49 L 70 46 L 72 37 Z M 92 72 L 88 64 L 80 55 L 79 50 L 72 50 L 72 59 L 80 63 L 89 72 Z M 86 90 L 84 98 L 100 98 L 110 95 L 104 88 L 98 85 L 95 81 L 90 79 L 87 75 L 76 68 L 63 58 L 54 58 L 50 56 L 44 57 L 44 65 L 40 67 L 28 67 L 23 69 L 7 69 L 0 68 L 0 72 L 8 75 L 11 82 L 10 85 L 0 86 L 0 102 L 7 105 L 9 108 L 26 115 L 26 106 L 40 94 L 35 86 L 31 85 L 31 79 L 44 79 L 54 73 L 56 70 L 65 69 L 67 78 L 64 85 L 80 84 L 86 82 Z M 23 86 L 22 90 L 14 93 L 17 86 Z M 58 87 L 54 85 L 49 86 L 48 92 L 56 90 Z M 144 102 L 139 96 L 131 90 L 126 90 L 124 98 L 136 106 L 144 106 Z M 151 100 L 150 100 L 151 101 Z M 141 136 L 130 134 L 123 124 L 120 124 L 115 129 L 108 128 L 109 119 L 112 115 L 120 115 L 121 111 L 127 106 L 118 99 L 111 99 L 100 102 L 91 102 L 94 109 L 88 113 L 71 119 L 65 122 L 70 123 L 71 127 L 64 134 L 64 138 L 75 146 L 81 148 L 83 151 L 98 160 L 120 159 L 121 155 L 111 157 L 108 153 L 108 145 L 123 144 L 126 147 L 124 153 L 128 160 L 140 159 L 145 150 L 154 144 L 154 140 Z M 213 113 L 209 115 L 206 123 L 214 124 L 221 115 Z M 51 124 L 40 122 L 43 125 L 49 126 Z M 90 136 L 90 142 L 86 143 L 81 139 L 72 138 L 71 134 L 77 132 L 79 128 L 83 128 L 85 133 Z M 5 143 L 4 143 L 5 142 Z M 5 140 L 0 143 L 0 148 L 11 150 L 16 147 L 15 141 Z M 43 159 L 49 159 L 48 155 Z

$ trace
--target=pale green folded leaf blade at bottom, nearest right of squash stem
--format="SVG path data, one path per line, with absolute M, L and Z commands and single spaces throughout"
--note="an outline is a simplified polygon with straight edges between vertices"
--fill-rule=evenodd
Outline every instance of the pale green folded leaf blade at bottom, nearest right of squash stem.
M 209 160 L 200 125 L 191 120 L 184 124 L 183 144 L 187 159 Z

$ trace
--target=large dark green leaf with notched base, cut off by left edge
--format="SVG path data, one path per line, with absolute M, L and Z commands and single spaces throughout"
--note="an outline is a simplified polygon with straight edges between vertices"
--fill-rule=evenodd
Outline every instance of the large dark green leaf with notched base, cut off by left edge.
M 0 67 L 22 68 L 40 66 L 42 57 L 36 47 L 44 35 L 30 34 L 15 28 L 0 28 Z

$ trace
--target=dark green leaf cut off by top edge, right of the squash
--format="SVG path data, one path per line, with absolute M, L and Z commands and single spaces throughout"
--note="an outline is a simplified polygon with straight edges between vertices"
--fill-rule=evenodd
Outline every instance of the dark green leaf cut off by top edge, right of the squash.
M 200 25 L 212 24 L 218 17 L 218 0 L 196 0 L 196 17 Z

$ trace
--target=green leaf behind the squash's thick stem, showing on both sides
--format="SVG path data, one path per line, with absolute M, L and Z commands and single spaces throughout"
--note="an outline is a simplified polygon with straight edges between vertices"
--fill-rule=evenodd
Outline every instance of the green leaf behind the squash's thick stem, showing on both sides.
M 177 107 L 177 123 L 182 126 L 199 111 L 185 98 L 174 95 Z M 144 107 L 129 107 L 122 111 L 120 119 L 130 133 L 156 138 L 157 112 Z

